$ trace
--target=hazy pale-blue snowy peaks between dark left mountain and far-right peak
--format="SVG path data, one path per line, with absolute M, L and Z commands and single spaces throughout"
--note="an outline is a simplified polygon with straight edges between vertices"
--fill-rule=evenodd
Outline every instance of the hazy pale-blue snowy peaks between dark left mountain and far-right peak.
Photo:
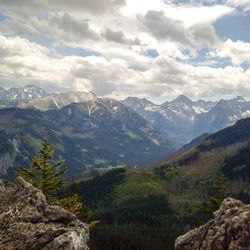
M 128 97 L 123 103 L 152 122 L 156 129 L 172 138 L 179 146 L 194 138 L 196 116 L 208 112 L 215 105 L 210 101 L 193 102 L 184 95 L 162 105 L 136 97 Z

